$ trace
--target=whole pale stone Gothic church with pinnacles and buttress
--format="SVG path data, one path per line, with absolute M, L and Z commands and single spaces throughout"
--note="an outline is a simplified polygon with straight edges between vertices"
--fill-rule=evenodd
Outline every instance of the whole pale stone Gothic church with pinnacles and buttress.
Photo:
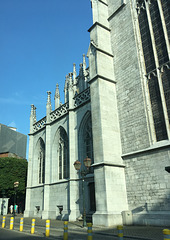
M 25 217 L 94 225 L 170 224 L 169 0 L 91 0 L 93 25 L 79 73 L 58 85 L 55 110 L 31 107 Z M 71 4 L 71 3 L 70 3 Z

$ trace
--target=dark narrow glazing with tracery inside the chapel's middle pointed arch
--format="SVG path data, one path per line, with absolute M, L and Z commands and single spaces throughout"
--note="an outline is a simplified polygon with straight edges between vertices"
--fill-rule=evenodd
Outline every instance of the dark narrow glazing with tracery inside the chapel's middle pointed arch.
M 59 179 L 69 177 L 68 137 L 66 131 L 60 127 L 58 145 Z

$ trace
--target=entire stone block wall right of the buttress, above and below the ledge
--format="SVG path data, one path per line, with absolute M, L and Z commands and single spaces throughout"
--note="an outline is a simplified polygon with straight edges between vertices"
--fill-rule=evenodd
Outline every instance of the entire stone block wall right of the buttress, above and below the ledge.
M 136 9 L 130 0 L 108 3 L 129 210 L 134 223 L 169 224 L 169 143 L 151 145 Z

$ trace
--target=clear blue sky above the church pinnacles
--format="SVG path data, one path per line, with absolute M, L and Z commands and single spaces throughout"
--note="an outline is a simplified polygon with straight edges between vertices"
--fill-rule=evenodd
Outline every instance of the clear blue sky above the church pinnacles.
M 0 123 L 27 135 L 31 104 L 44 117 L 50 90 L 54 109 L 56 83 L 64 101 L 65 76 L 88 50 L 91 11 L 90 0 L 0 0 Z

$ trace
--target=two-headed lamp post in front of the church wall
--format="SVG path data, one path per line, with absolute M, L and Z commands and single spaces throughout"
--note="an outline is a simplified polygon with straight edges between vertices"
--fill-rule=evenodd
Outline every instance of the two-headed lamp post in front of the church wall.
M 82 192 L 83 192 L 83 227 L 85 227 L 86 226 L 86 209 L 85 209 L 84 177 L 89 173 L 89 168 L 91 167 L 91 159 L 86 157 L 83 162 L 85 167 L 87 168 L 80 172 L 82 176 Z M 75 161 L 74 167 L 77 171 L 79 171 L 81 168 L 81 162 L 79 162 L 78 160 Z

